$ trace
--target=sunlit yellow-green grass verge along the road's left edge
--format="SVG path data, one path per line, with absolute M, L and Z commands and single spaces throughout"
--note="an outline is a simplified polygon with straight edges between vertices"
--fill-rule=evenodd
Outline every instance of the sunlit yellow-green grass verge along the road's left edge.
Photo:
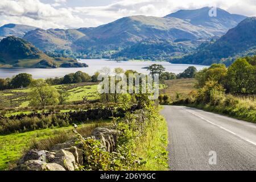
M 158 121 L 148 131 L 146 137 L 136 146 L 135 153 L 147 162 L 139 170 L 167 171 L 169 168 L 167 122 L 162 116 L 159 117 Z

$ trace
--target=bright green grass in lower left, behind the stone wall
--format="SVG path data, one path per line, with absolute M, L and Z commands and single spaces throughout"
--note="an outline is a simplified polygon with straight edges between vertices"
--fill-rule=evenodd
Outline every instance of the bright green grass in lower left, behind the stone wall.
M 98 126 L 106 126 L 108 124 L 108 121 L 86 123 L 80 125 L 77 130 L 85 135 L 86 131 L 91 132 L 92 129 Z M 41 150 L 48 149 L 49 146 L 59 142 L 56 137 L 60 138 L 64 134 L 68 134 L 70 138 L 73 137 L 72 130 L 73 126 L 69 126 L 59 129 L 43 129 L 26 133 L 0 135 L 0 170 L 9 168 L 11 163 L 15 163 L 24 154 L 24 151 L 27 151 L 32 146 L 37 146 Z

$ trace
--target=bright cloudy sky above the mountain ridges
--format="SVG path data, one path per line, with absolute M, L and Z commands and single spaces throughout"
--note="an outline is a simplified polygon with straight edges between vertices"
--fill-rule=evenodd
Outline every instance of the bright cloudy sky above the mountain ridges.
M 48 28 L 96 27 L 124 16 L 165 16 L 180 9 L 220 7 L 256 16 L 256 0 L 0 0 L 0 26 L 7 23 Z

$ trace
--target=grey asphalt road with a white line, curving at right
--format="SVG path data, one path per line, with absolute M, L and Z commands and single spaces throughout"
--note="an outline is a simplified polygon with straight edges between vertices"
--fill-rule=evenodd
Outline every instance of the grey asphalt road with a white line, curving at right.
M 164 106 L 161 114 L 171 170 L 256 170 L 255 123 L 185 106 Z

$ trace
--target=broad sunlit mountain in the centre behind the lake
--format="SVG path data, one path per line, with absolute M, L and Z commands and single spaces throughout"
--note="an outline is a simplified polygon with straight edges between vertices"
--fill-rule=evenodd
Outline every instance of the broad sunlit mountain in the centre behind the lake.
M 86 37 L 78 39 L 79 51 L 119 50 L 147 39 L 207 39 L 214 34 L 205 28 L 194 26 L 177 18 L 153 16 L 130 16 L 105 24 L 86 32 Z

